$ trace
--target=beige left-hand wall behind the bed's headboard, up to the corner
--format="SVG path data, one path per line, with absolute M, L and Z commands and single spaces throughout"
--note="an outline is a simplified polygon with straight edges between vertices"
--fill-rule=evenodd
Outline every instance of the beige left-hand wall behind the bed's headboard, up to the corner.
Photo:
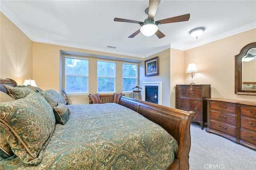
M 33 79 L 32 41 L 0 12 L 0 78 Z

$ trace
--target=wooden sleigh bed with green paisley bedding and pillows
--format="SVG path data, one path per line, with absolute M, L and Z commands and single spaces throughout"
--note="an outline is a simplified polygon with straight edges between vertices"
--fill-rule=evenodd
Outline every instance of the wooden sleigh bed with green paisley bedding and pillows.
M 15 87 L 11 79 L 0 86 L 2 96 L 16 98 L 0 101 L 0 169 L 189 169 L 192 111 L 126 96 L 64 106 L 53 90 Z

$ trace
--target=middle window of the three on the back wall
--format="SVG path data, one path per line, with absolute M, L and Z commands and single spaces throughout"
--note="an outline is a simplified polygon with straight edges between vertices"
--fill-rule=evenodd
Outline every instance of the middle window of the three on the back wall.
M 115 92 L 116 90 L 116 63 L 97 61 L 98 92 Z

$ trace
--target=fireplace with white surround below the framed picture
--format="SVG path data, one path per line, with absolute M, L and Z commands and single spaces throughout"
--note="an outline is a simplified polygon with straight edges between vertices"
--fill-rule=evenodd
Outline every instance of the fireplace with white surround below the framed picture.
M 142 82 L 142 100 L 162 105 L 162 82 Z

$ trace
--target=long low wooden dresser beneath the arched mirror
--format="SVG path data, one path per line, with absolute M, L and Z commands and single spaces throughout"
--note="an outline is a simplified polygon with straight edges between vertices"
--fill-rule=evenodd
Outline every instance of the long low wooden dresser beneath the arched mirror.
M 209 98 L 206 132 L 256 150 L 256 102 Z

